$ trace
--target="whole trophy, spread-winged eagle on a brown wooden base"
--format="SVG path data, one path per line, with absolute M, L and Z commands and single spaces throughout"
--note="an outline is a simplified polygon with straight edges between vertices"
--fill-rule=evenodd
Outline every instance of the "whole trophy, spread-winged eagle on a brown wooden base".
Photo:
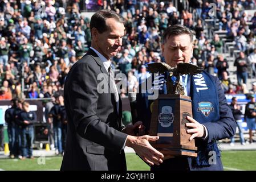
M 194 139 L 186 133 L 186 117 L 192 115 L 192 100 L 184 96 L 181 75 L 196 75 L 202 72 L 201 67 L 189 63 L 177 64 L 176 68 L 166 63 L 148 64 L 151 73 L 169 72 L 166 79 L 167 94 L 160 94 L 152 103 L 151 125 L 149 135 L 159 136 L 159 140 L 151 142 L 156 150 L 168 156 L 197 156 Z

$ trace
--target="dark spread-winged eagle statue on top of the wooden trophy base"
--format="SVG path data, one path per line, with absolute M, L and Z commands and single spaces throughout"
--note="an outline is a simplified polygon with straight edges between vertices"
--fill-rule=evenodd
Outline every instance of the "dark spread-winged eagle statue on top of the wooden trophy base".
M 166 80 L 167 93 L 184 95 L 184 88 L 180 82 L 180 75 L 196 75 L 201 73 L 204 68 L 198 67 L 190 63 L 179 63 L 177 67 L 170 67 L 166 63 L 152 63 L 147 65 L 150 73 L 165 73 L 169 72 L 169 77 Z M 174 80 L 172 79 L 175 78 Z

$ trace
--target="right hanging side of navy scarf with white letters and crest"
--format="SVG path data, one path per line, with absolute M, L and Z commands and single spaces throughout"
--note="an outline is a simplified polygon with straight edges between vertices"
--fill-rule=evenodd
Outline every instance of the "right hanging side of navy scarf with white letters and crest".
M 206 72 L 194 75 L 190 86 L 192 98 L 193 118 L 201 124 L 206 122 L 217 122 L 220 119 L 218 91 L 213 78 Z M 216 142 L 207 143 L 202 139 L 196 139 L 198 147 L 197 158 L 192 159 L 194 167 L 209 166 L 209 152 L 215 151 L 220 155 Z

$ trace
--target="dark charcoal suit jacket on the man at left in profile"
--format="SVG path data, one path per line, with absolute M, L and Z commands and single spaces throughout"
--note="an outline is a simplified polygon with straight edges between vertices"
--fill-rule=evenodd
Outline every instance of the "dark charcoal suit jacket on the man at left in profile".
M 67 75 L 64 103 L 67 111 L 67 143 L 61 170 L 125 170 L 123 146 L 127 134 L 121 133 L 114 95 L 97 92 L 99 74 L 105 73 L 102 61 L 92 49 L 75 63 Z M 106 80 L 105 80 L 106 81 Z M 107 89 L 109 83 L 104 82 Z

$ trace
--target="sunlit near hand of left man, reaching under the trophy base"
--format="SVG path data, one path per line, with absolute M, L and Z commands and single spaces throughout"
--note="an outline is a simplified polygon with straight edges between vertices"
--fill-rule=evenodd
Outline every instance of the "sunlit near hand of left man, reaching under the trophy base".
M 133 148 L 136 154 L 148 164 L 152 166 L 154 164 L 159 165 L 162 163 L 164 155 L 153 148 L 149 143 L 149 141 L 156 141 L 158 139 L 159 137 L 157 136 L 143 135 L 141 137 L 133 137 L 128 135 L 125 146 Z

